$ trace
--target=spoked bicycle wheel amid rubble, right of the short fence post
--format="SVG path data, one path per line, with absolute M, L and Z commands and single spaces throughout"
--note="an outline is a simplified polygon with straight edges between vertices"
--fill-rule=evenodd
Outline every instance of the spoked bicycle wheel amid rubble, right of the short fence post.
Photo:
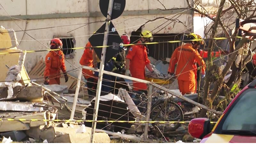
M 151 110 L 152 121 L 183 121 L 184 114 L 181 107 L 172 101 L 159 101 Z M 180 123 L 155 123 L 158 127 L 165 127 L 168 131 L 175 131 Z

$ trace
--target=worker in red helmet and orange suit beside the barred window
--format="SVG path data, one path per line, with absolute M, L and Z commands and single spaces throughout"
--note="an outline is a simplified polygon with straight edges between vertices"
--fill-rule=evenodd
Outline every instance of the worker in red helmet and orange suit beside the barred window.
M 60 70 L 62 70 L 65 82 L 68 82 L 68 75 L 66 72 L 64 54 L 61 50 L 62 42 L 60 39 L 52 39 L 50 42 L 51 49 L 59 49 L 50 51 L 45 57 L 45 70 L 44 70 L 44 84 L 45 85 L 60 85 Z

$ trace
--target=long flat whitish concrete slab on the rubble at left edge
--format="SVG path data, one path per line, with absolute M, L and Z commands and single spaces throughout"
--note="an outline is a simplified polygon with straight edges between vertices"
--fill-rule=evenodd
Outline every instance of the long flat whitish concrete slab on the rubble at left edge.
M 39 107 L 39 106 L 35 107 L 34 105 L 45 106 L 44 103 L 0 101 L 0 110 L 2 111 L 43 111 L 43 107 Z

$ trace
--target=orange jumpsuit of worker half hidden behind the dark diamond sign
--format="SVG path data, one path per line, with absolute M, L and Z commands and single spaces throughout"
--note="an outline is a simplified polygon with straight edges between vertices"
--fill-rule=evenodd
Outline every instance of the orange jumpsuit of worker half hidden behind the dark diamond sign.
M 85 65 L 85 66 L 90 66 L 90 67 L 94 67 L 93 66 L 93 48 L 91 43 L 88 42 L 85 46 L 85 50 L 84 53 L 80 59 L 80 64 L 81 65 Z M 85 77 L 85 79 L 89 79 L 89 78 L 93 78 L 92 76 L 94 76 L 93 71 L 91 70 L 87 70 L 87 69 L 83 69 L 83 75 Z

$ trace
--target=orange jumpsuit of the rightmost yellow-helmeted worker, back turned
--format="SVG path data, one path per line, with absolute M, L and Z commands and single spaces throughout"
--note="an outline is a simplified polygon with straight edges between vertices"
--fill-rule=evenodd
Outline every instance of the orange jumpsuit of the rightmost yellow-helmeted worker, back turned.
M 203 66 L 202 72 L 205 72 L 205 62 L 199 52 L 190 45 L 183 45 L 174 50 L 169 64 L 168 71 L 174 73 L 177 63 L 176 75 L 178 76 L 179 90 L 182 95 L 195 93 L 196 91 L 196 71 L 198 65 Z

